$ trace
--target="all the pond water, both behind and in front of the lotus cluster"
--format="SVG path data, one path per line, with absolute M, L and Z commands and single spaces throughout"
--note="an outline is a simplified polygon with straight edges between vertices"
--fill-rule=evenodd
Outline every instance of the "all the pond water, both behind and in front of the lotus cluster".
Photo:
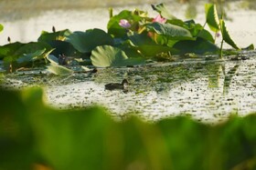
M 59 30 L 69 28 L 79 31 L 95 27 L 106 30 L 109 6 L 114 6 L 114 13 L 139 7 L 155 15 L 150 7 L 154 1 L 131 1 L 125 6 L 106 1 L 103 5 L 91 4 L 94 8 L 80 5 L 85 2 L 81 0 L 69 8 L 69 1 L 64 1 L 67 4 L 63 3 L 58 10 L 44 5 L 46 1 L 34 3 L 32 7 L 9 5 L 10 1 L 3 1 L 5 4 L 1 2 L 1 6 L 8 5 L 1 13 L 12 15 L 0 16 L 5 26 L 5 31 L 0 35 L 0 44 L 7 43 L 7 36 L 11 36 L 13 42 L 37 41 L 40 32 L 51 31 L 52 25 Z M 203 25 L 204 2 L 199 1 L 195 6 L 168 1 L 167 5 L 177 17 L 184 19 L 186 15 L 188 18 L 194 16 Z M 225 5 L 229 33 L 242 47 L 256 45 L 256 11 L 248 10 L 250 3 L 236 1 Z M 27 10 L 31 15 L 26 15 Z M 0 79 L 5 87 L 43 86 L 48 105 L 58 108 L 96 104 L 108 108 L 117 119 L 129 114 L 153 121 L 166 116 L 189 115 L 198 121 L 217 123 L 226 120 L 230 114 L 248 115 L 256 112 L 256 51 L 240 52 L 239 60 L 230 57 L 237 58 L 229 56 L 229 59 L 219 60 L 202 56 L 172 63 L 99 69 L 96 74 L 77 73 L 65 77 L 48 75 L 47 71 L 39 69 L 4 75 Z M 123 78 L 130 83 L 128 92 L 104 89 L 105 84 L 120 83 Z

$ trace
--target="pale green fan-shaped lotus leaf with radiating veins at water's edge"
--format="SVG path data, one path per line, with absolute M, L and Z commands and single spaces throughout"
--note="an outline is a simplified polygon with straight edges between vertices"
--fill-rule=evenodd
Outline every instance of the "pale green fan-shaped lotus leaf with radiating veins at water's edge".
M 91 52 L 91 63 L 94 66 L 124 66 L 127 65 L 128 56 L 123 50 L 111 45 L 97 46 Z

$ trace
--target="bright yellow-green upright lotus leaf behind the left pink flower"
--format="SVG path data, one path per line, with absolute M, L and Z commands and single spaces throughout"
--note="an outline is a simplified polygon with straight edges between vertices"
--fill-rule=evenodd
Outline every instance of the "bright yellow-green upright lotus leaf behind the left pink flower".
M 120 14 L 112 16 L 108 23 L 108 33 L 114 37 L 123 37 L 126 35 L 127 30 L 119 25 L 121 19 L 126 19 L 132 27 L 130 29 L 136 29 L 136 25 L 141 20 L 141 16 L 134 15 L 132 11 L 123 10 Z

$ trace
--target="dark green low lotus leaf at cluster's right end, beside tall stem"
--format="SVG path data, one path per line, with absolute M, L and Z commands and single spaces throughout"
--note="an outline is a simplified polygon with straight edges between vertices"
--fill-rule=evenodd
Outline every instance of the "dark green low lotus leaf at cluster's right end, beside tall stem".
M 186 53 L 203 55 L 207 53 L 217 53 L 219 51 L 219 47 L 217 45 L 214 45 L 208 40 L 200 37 L 198 37 L 196 41 L 186 40 L 177 42 L 173 47 L 179 51 L 178 55 Z

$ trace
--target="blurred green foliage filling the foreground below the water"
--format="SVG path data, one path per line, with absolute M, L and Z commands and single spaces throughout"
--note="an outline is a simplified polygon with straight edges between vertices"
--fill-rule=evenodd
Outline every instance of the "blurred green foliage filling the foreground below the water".
M 221 125 L 189 117 L 115 122 L 96 106 L 49 108 L 40 88 L 0 93 L 1 170 L 256 168 L 255 114 Z

